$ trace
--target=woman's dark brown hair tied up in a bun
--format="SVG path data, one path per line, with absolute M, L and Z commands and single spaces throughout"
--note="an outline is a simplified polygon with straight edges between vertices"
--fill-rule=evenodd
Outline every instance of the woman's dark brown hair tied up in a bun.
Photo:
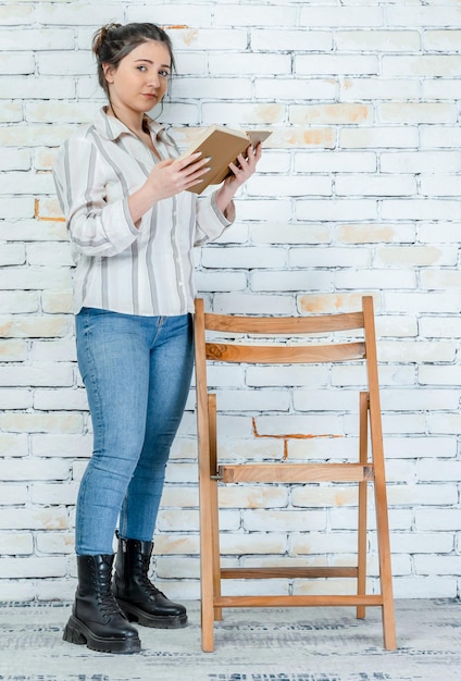
M 102 26 L 92 36 L 91 48 L 98 60 L 98 81 L 109 99 L 109 85 L 105 81 L 102 64 L 111 64 L 119 66 L 124 57 L 129 54 L 138 45 L 154 40 L 163 42 L 169 52 L 172 62 L 172 69 L 175 67 L 173 57 L 173 46 L 170 36 L 157 24 L 107 24 Z

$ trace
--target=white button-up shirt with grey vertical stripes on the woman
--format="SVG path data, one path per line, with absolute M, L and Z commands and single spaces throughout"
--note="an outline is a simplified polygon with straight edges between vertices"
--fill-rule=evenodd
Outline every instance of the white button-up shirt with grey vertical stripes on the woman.
M 175 158 L 172 138 L 148 122 L 160 157 Z M 140 315 L 194 311 L 194 246 L 217 238 L 230 222 L 215 194 L 182 191 L 154 203 L 137 228 L 128 196 L 155 162 L 154 153 L 103 109 L 59 150 L 53 175 L 76 263 L 76 313 L 82 307 Z

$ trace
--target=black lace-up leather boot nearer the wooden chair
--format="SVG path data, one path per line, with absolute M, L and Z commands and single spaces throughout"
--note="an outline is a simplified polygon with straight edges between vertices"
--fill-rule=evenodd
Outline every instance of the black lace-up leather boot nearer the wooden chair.
M 152 547 L 152 542 L 119 537 L 112 592 L 130 621 L 157 629 L 186 627 L 186 608 L 166 598 L 149 581 Z

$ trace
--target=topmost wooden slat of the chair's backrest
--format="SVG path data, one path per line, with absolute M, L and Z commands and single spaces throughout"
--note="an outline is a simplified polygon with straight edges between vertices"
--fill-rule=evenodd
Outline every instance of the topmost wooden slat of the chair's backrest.
M 323 333 L 363 329 L 363 312 L 316 314 L 313 317 L 238 317 L 205 313 L 204 326 L 210 331 L 232 333 L 285 334 Z

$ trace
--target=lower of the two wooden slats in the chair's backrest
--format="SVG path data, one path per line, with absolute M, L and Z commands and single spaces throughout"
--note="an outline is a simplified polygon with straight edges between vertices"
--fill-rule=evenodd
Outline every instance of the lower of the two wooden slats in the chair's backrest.
M 207 359 L 214 361 L 301 364 L 363 359 L 365 344 L 359 342 L 311 346 L 274 346 L 207 343 L 205 351 Z

